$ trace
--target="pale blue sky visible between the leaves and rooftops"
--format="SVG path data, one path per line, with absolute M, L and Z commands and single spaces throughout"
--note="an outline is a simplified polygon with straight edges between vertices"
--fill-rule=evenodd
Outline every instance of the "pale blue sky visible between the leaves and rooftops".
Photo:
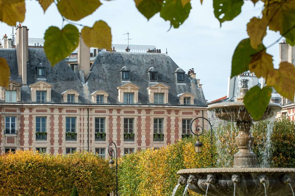
M 38 1 L 25 2 L 26 16 L 22 24 L 29 28 L 30 38 L 43 38 L 49 26 L 62 27 L 62 18 L 55 4 L 44 14 Z M 213 13 L 212 0 L 204 0 L 203 5 L 199 0 L 192 0 L 188 19 L 178 29 L 169 30 L 169 21 L 160 18 L 160 14 L 148 21 L 137 10 L 133 0 L 101 2 L 102 5 L 93 14 L 78 23 L 93 26 L 95 21 L 104 20 L 112 29 L 112 44 L 127 44 L 127 35 L 123 34 L 129 32 L 129 44 L 155 45 L 162 52 L 167 48 L 168 55 L 184 71 L 195 69 L 209 102 L 227 95 L 232 54 L 237 44 L 248 37 L 246 25 L 253 16 L 260 16 L 263 6 L 261 2 L 254 6 L 251 1 L 245 1 L 241 14 L 220 27 Z M 11 33 L 11 26 L 0 23 L 0 35 L 7 34 L 10 38 Z M 268 31 L 263 44 L 268 46 L 279 38 L 279 33 Z M 277 68 L 279 44 L 274 44 L 267 52 L 273 55 Z

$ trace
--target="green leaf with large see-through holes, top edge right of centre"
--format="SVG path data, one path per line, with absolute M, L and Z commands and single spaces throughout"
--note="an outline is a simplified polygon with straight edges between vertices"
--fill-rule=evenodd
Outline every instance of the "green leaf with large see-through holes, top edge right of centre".
M 215 17 L 220 26 L 224 21 L 230 21 L 241 13 L 243 0 L 213 0 Z

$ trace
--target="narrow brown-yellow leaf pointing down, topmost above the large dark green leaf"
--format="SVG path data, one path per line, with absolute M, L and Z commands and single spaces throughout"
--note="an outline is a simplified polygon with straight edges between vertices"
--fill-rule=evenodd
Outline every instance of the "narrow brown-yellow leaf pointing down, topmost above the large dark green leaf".
M 253 17 L 247 24 L 247 32 L 252 48 L 257 49 L 264 36 L 266 36 L 268 20 L 266 17 L 258 19 Z

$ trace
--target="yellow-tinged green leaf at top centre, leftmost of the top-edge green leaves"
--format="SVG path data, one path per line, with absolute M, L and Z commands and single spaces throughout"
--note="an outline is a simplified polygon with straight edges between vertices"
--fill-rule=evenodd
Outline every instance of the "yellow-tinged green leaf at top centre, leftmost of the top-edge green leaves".
M 163 0 L 134 0 L 135 5 L 147 19 L 153 17 L 156 13 L 161 11 Z

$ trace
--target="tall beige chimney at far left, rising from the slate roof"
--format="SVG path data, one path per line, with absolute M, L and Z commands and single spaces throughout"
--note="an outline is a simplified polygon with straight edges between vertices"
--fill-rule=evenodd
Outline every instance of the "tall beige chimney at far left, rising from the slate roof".
M 22 77 L 22 84 L 27 85 L 27 62 L 29 59 L 28 36 L 29 29 L 19 24 L 16 29 L 15 48 L 17 52 L 18 74 Z

